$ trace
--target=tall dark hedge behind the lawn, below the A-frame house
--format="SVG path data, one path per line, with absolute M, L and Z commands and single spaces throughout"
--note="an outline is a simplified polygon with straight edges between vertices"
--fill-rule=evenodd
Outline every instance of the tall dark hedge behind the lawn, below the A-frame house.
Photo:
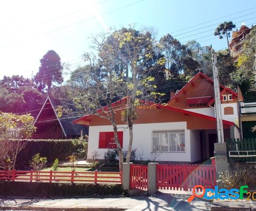
M 87 154 L 87 144 L 78 139 L 70 140 L 23 140 L 28 142 L 26 147 L 17 156 L 16 170 L 28 170 L 29 161 L 32 156 L 40 153 L 41 156 L 47 157 L 48 164 L 58 158 L 66 160 L 67 156 L 76 153 L 78 149 L 85 149 Z

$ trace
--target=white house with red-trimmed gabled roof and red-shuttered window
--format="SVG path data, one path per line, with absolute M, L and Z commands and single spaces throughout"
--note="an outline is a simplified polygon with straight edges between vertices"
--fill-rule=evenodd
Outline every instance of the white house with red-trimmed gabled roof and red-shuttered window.
M 239 129 L 234 124 L 237 115 L 237 96 L 232 90 L 221 86 L 224 138 L 238 138 Z M 167 106 L 140 99 L 137 120 L 133 133 L 133 149 L 137 149 L 138 160 L 154 156 L 160 162 L 193 163 L 213 156 L 217 142 L 216 118 L 214 113 L 213 81 L 198 73 L 188 84 L 174 95 Z M 231 100 L 232 98 L 232 100 Z M 129 130 L 121 121 L 121 111 L 126 108 L 126 98 L 114 102 L 118 136 L 123 150 L 128 149 Z M 232 109 L 227 108 L 233 108 Z M 102 109 L 107 109 L 104 107 Z M 102 109 L 97 110 L 101 113 Z M 226 109 L 226 111 L 225 111 Z M 231 115 L 232 117 L 230 117 Z M 110 122 L 95 115 L 74 120 L 76 124 L 89 126 L 88 155 L 93 152 L 104 159 L 108 149 L 116 148 Z

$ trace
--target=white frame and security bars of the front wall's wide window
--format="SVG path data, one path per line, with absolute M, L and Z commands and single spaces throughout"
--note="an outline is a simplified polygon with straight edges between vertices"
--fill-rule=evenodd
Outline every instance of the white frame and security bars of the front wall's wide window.
M 166 132 L 164 132 L 166 131 Z M 163 138 L 162 135 L 163 134 Z M 175 134 L 175 138 L 177 137 L 177 134 L 182 134 L 182 137 L 179 138 L 179 144 L 177 143 L 177 140 L 175 140 L 174 138 L 174 134 Z M 158 143 L 154 144 L 154 142 L 156 142 L 156 140 L 154 140 L 154 135 L 159 135 L 158 137 Z M 166 136 L 167 135 L 167 136 Z M 170 139 L 171 138 L 171 139 Z M 167 143 L 165 143 L 163 145 L 164 141 L 167 141 Z M 183 140 L 182 140 L 183 139 Z M 171 144 L 172 142 L 172 144 Z M 175 144 L 173 144 L 174 142 L 176 142 Z M 151 137 L 151 152 L 152 153 L 186 153 L 186 138 L 185 138 L 185 129 L 176 129 L 176 130 L 152 130 L 152 137 Z M 153 150 L 154 147 L 159 146 L 159 150 Z M 168 151 L 164 151 L 163 148 L 167 147 Z M 177 149 L 182 149 L 180 151 L 178 151 Z M 171 148 L 176 148 L 176 150 L 170 150 Z

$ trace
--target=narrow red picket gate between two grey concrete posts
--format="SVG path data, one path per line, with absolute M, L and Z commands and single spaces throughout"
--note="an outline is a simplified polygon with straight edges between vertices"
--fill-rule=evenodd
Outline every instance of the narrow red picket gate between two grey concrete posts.
M 130 189 L 148 189 L 148 166 L 130 165 Z

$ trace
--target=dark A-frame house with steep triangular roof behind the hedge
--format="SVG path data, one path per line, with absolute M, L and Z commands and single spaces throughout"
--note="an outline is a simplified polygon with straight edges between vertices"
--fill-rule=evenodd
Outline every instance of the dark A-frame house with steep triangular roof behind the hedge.
M 46 98 L 34 126 L 37 127 L 36 132 L 32 135 L 33 139 L 68 139 L 79 138 L 82 135 L 88 135 L 89 128 L 87 126 L 73 124 L 72 121 L 76 117 L 59 117 L 56 108 L 61 106 L 59 100 Z M 74 110 L 75 108 L 72 107 Z

